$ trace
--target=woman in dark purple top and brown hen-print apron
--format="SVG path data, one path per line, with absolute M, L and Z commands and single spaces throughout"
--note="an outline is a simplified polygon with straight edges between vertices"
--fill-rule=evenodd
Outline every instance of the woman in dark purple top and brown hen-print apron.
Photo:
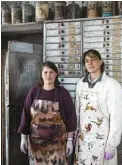
M 72 122 L 73 121 L 73 122 Z M 43 64 L 40 83 L 25 100 L 21 123 L 21 151 L 30 165 L 66 165 L 73 151 L 76 114 L 69 92 L 59 85 L 58 69 Z

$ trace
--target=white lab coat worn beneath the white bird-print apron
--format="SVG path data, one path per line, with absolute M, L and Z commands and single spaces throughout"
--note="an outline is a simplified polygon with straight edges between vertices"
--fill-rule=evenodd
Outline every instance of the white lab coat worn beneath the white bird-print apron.
M 77 123 L 78 129 L 82 114 L 81 110 L 81 95 L 85 90 L 88 90 L 88 83 L 82 81 L 83 78 L 79 80 L 76 86 L 76 113 L 77 113 Z M 92 88 L 93 91 L 97 92 L 98 102 L 97 105 L 100 109 L 101 114 L 108 120 L 109 125 L 106 125 L 106 130 L 108 131 L 106 144 L 110 144 L 112 146 L 117 147 L 120 144 L 121 133 L 122 133 L 122 88 L 120 84 L 110 76 L 107 76 L 106 73 L 103 73 L 102 80 L 97 82 L 95 86 Z M 76 140 L 76 150 L 75 157 L 77 157 L 77 161 L 74 163 L 75 165 L 82 165 L 82 161 L 79 157 L 82 157 L 78 153 L 77 147 L 81 145 L 81 143 L 77 143 L 78 138 Z M 78 145 L 77 145 L 78 144 Z M 98 151 L 97 151 L 98 152 Z M 103 151 L 104 152 L 104 151 Z M 103 153 L 104 154 L 104 153 Z M 104 158 L 103 158 L 104 159 Z M 88 163 L 84 163 L 84 165 L 89 165 Z M 111 160 L 103 160 L 103 163 L 99 165 L 118 165 L 117 164 L 117 152 L 113 159 Z

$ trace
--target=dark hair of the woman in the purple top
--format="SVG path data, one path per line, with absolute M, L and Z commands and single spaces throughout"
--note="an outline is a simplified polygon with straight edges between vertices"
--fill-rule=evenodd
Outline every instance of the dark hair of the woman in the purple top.
M 55 82 L 54 82 L 54 86 L 57 87 L 60 85 L 60 82 L 58 80 L 58 68 L 57 66 L 52 62 L 52 61 L 45 61 L 43 64 L 42 64 L 42 67 L 41 67 L 41 71 L 40 71 L 40 85 L 43 86 L 44 85 L 44 81 L 43 81 L 43 78 L 42 78 L 42 71 L 43 71 L 43 68 L 47 66 L 48 68 L 51 68 L 54 70 L 54 72 L 57 73 L 57 76 L 56 76 L 56 79 L 55 79 Z

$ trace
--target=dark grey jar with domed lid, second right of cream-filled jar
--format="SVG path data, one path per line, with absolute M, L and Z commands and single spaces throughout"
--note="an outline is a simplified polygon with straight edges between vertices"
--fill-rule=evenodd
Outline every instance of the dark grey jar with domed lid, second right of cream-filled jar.
M 75 19 L 79 17 L 80 17 L 79 5 L 74 1 L 72 1 L 72 3 L 68 5 L 68 18 Z

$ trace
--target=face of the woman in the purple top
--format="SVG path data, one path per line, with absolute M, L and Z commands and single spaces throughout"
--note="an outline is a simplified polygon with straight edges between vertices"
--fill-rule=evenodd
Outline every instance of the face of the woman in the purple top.
M 44 81 L 44 84 L 53 85 L 56 79 L 57 73 L 51 69 L 45 66 L 42 70 L 42 78 Z

